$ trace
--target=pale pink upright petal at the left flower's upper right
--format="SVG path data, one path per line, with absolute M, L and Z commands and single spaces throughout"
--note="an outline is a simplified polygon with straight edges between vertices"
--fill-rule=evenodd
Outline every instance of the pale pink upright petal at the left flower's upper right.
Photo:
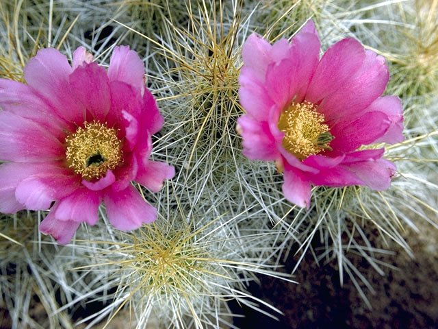
M 129 50 L 129 46 L 114 47 L 108 67 L 110 81 L 125 82 L 144 90 L 144 74 L 144 64 L 136 51 Z

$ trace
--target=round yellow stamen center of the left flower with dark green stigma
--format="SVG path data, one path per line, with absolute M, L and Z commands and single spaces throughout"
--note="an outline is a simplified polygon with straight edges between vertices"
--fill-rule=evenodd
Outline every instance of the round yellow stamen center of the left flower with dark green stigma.
M 66 138 L 68 167 L 85 180 L 101 178 L 123 161 L 117 130 L 99 122 L 86 122 Z

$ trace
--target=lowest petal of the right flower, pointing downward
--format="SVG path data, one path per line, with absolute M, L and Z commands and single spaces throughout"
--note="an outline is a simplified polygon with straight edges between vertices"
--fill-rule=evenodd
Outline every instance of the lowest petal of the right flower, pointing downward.
M 285 165 L 285 182 L 283 183 L 283 194 L 287 201 L 299 207 L 310 207 L 311 185 L 305 173 L 295 167 Z

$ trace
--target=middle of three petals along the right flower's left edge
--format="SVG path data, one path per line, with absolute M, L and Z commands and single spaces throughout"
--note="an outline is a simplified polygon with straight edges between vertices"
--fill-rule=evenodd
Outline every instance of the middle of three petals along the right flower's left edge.
M 252 70 L 242 67 L 239 75 L 239 97 L 246 113 L 259 121 L 267 121 L 269 110 L 274 102 L 268 95 L 266 88 L 257 82 Z

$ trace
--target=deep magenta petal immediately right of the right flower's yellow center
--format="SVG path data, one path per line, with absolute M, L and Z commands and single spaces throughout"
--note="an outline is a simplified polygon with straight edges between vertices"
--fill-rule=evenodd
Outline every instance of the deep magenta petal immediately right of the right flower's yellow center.
M 365 113 L 352 122 L 345 118 L 332 127 L 331 134 L 335 139 L 331 141 L 330 147 L 335 154 L 355 151 L 361 145 L 374 143 L 383 136 L 390 123 L 387 114 L 377 111 Z

